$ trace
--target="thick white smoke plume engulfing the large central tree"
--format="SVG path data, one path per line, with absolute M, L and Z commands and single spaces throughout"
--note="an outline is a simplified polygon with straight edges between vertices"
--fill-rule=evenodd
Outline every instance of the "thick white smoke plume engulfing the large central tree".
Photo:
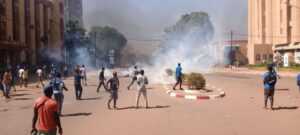
M 215 43 L 215 28 L 204 12 L 182 16 L 167 30 L 162 48 L 154 53 L 151 65 L 143 65 L 152 82 L 165 82 L 166 69 L 175 70 L 181 63 L 184 73 L 212 71 L 223 58 L 223 47 Z

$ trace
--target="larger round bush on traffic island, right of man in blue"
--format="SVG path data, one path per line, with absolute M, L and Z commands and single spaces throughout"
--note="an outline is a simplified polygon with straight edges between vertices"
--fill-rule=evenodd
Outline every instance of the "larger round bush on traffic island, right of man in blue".
M 184 74 L 183 81 L 187 83 L 190 89 L 201 90 L 205 88 L 206 80 L 200 73 Z

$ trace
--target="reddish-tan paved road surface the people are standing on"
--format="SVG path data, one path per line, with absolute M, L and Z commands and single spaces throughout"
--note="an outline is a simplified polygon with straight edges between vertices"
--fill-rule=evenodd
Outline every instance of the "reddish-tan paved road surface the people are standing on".
M 279 81 L 275 111 L 263 109 L 261 78 L 241 74 L 210 74 L 208 82 L 226 91 L 217 100 L 185 100 L 170 98 L 160 85 L 151 85 L 151 109 L 134 109 L 135 90 L 127 91 L 128 79 L 121 79 L 119 110 L 108 110 L 108 94 L 96 93 L 96 76 L 89 76 L 83 101 L 66 92 L 62 123 L 65 135 L 299 135 L 300 93 L 293 78 Z M 13 100 L 0 100 L 0 134 L 25 135 L 30 131 L 32 103 L 41 95 L 31 87 L 17 92 Z M 143 101 L 143 100 L 142 100 Z M 143 103 L 143 102 L 142 102 Z

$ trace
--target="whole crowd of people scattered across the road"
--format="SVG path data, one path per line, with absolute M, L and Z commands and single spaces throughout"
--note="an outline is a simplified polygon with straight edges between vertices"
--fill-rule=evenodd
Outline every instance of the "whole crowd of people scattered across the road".
M 270 108 L 273 109 L 275 86 L 277 79 L 280 77 L 272 64 L 267 66 L 267 70 L 268 71 L 263 75 L 264 107 L 267 109 L 268 101 L 270 101 Z M 173 86 L 173 90 L 176 90 L 178 85 L 179 89 L 183 90 L 183 73 L 180 63 L 177 64 L 175 71 L 176 83 Z M 59 71 L 55 65 L 51 65 L 51 70 L 47 74 L 45 67 L 39 66 L 36 68 L 35 74 L 37 78 L 36 87 L 43 88 L 44 95 L 38 98 L 34 104 L 32 134 L 55 135 L 57 130 L 62 134 L 63 131 L 60 124 L 60 116 L 62 115 L 63 110 L 64 91 L 69 90 L 64 83 L 64 78 L 69 75 L 69 71 L 67 67 L 64 67 L 63 70 Z M 77 65 L 73 71 L 73 77 L 75 99 L 82 100 L 83 85 L 88 85 L 85 65 Z M 130 90 L 132 85 L 137 85 L 136 108 L 139 108 L 141 96 L 145 99 L 146 108 L 149 108 L 146 87 L 149 82 L 145 75 L 145 71 L 134 66 L 130 77 L 131 81 L 127 86 L 127 89 Z M 19 67 L 16 71 L 12 71 L 11 69 L 6 70 L 2 75 L 0 85 L 4 97 L 10 98 L 10 89 L 16 91 L 16 84 L 18 84 L 20 88 L 27 87 L 28 80 L 29 69 L 26 66 Z M 45 84 L 45 80 L 48 80 L 47 84 Z M 98 74 L 98 80 L 99 84 L 96 92 L 99 93 L 103 86 L 104 90 L 110 94 L 107 101 L 107 108 L 112 109 L 111 102 L 113 102 L 113 109 L 118 109 L 117 101 L 119 97 L 118 91 L 120 89 L 118 73 L 114 71 L 112 77 L 107 79 L 105 76 L 105 68 L 102 67 Z M 300 90 L 300 75 L 297 76 L 297 84 Z

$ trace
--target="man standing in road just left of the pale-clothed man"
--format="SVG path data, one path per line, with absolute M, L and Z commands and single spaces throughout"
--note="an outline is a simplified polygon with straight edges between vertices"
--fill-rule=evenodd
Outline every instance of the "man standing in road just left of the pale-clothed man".
M 113 72 L 113 77 L 107 81 L 106 86 L 109 86 L 110 99 L 107 102 L 108 109 L 111 109 L 110 103 L 114 100 L 114 109 L 117 109 L 117 100 L 118 100 L 118 90 L 120 86 L 120 81 L 117 75 L 117 72 Z

